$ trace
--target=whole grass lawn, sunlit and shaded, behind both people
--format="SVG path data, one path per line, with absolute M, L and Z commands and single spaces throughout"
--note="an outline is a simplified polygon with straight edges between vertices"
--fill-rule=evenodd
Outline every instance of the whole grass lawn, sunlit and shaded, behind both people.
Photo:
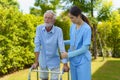
M 0 80 L 27 80 L 28 69 L 1 77 Z M 31 80 L 36 79 L 32 72 Z M 63 74 L 63 80 L 68 80 L 68 73 Z M 120 80 L 120 58 L 98 58 L 92 61 L 92 80 Z

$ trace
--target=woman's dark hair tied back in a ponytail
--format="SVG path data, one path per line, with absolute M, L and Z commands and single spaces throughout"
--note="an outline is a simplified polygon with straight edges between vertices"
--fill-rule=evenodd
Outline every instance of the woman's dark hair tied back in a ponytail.
M 88 18 L 82 14 L 81 9 L 78 8 L 77 6 L 71 7 L 71 9 L 69 10 L 69 13 L 76 17 L 80 15 L 82 20 L 85 21 L 88 25 L 90 25 Z

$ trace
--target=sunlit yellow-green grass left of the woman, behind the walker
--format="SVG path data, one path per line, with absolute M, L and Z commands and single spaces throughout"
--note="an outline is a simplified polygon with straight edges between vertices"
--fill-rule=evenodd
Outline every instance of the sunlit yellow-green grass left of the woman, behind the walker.
M 62 64 L 61 64 L 61 70 L 62 70 Z M 13 74 L 4 76 L 4 77 L 0 78 L 0 80 L 28 80 L 28 73 L 29 73 L 29 69 L 20 70 Z M 65 72 L 62 75 L 62 77 L 63 77 L 63 80 L 68 80 L 68 73 Z M 31 80 L 37 80 L 36 72 L 31 72 Z

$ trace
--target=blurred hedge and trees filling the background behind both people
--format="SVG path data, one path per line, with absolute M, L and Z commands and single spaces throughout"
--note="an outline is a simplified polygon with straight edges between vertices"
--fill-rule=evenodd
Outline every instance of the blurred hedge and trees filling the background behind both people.
M 93 59 L 119 58 L 120 8 L 113 9 L 112 0 L 35 0 L 29 14 L 20 11 L 17 0 L 0 0 L 0 76 L 29 68 L 34 62 L 35 29 L 43 23 L 46 10 L 60 13 L 55 25 L 62 28 L 64 39 L 69 39 L 71 22 L 67 13 L 72 5 L 80 7 L 89 18 Z

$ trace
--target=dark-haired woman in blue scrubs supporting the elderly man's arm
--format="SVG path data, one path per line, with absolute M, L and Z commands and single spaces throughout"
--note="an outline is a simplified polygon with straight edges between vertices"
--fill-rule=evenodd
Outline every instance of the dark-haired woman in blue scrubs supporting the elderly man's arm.
M 70 45 L 68 53 L 61 54 L 62 58 L 70 61 L 71 80 L 91 80 L 91 27 L 88 19 L 77 6 L 69 10 L 72 21 L 70 40 L 65 45 Z

